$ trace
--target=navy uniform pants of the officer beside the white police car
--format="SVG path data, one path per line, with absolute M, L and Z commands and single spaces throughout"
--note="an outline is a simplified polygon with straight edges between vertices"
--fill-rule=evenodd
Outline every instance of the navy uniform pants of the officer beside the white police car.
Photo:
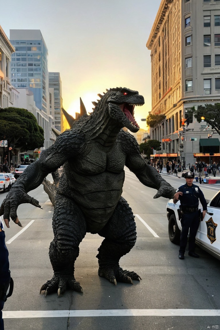
M 181 226 L 182 231 L 180 235 L 180 248 L 179 252 L 185 252 L 188 232 L 189 232 L 189 252 L 194 252 L 195 250 L 195 240 L 196 233 L 199 228 L 199 219 L 200 211 L 184 213 L 181 217 Z

